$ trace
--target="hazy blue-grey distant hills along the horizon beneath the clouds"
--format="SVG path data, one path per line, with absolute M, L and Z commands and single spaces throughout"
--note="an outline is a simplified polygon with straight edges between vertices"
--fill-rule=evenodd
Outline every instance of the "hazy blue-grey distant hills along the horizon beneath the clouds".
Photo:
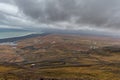
M 60 29 L 42 29 L 43 32 L 57 33 L 57 34 L 75 34 L 83 36 L 104 36 L 104 37 L 119 37 L 119 35 L 112 34 L 105 31 L 95 31 L 95 30 L 60 30 Z

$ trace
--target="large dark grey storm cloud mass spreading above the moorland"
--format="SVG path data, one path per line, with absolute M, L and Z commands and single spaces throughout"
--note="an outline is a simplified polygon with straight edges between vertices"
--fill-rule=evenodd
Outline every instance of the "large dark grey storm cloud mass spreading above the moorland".
M 120 28 L 119 0 L 14 0 L 30 19 L 43 24 Z

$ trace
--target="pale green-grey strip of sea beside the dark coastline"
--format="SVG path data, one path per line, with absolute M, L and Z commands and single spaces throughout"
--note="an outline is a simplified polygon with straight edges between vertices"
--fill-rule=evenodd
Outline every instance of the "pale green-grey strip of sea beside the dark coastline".
M 12 37 L 20 37 L 20 36 L 26 36 L 29 34 L 33 34 L 35 32 L 23 32 L 23 31 L 19 31 L 19 32 L 0 32 L 0 39 L 4 39 L 4 38 L 12 38 Z

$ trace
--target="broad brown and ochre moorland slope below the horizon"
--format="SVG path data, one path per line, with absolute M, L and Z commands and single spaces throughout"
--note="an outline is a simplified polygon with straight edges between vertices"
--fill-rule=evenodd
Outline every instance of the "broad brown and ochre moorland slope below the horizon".
M 21 80 L 21 77 L 28 80 L 119 80 L 119 45 L 117 38 L 65 34 L 20 40 L 15 46 L 0 46 L 1 69 L 5 69 L 0 76 L 12 76 L 13 80 Z

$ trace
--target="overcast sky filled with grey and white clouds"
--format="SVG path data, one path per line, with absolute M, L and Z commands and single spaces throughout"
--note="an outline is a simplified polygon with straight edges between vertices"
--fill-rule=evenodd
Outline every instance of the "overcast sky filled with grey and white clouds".
M 0 28 L 120 32 L 120 0 L 0 0 Z

